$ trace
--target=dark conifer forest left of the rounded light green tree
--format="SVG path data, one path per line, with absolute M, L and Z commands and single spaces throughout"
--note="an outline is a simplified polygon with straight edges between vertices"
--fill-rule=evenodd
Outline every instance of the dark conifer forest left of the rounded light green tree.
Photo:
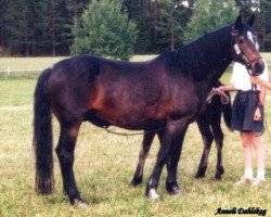
M 76 0 L 1 1 L 0 39 L 10 54 L 68 54 L 72 24 L 81 11 Z M 7 49 L 8 48 L 8 49 Z

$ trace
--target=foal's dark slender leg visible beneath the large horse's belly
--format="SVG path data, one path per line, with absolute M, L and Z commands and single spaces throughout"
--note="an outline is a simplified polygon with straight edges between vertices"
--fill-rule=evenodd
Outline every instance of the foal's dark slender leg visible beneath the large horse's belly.
M 155 132 L 147 132 L 147 133 L 144 135 L 142 145 L 141 145 L 141 150 L 140 150 L 140 154 L 139 154 L 138 166 L 137 166 L 136 173 L 133 175 L 133 178 L 132 178 L 132 180 L 130 182 L 130 184 L 133 186 L 133 187 L 137 187 L 140 183 L 142 183 L 144 164 L 145 164 L 147 154 L 150 152 L 150 148 L 152 145 L 154 137 L 155 137 Z

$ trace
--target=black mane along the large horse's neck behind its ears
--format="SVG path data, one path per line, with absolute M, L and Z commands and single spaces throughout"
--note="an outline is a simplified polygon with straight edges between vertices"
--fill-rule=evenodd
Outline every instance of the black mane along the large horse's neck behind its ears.
M 225 52 L 221 52 L 221 49 L 231 48 L 231 28 L 232 25 L 224 26 L 159 58 L 167 59 L 170 66 L 196 78 L 201 76 L 199 73 L 207 73 L 215 63 L 224 60 Z

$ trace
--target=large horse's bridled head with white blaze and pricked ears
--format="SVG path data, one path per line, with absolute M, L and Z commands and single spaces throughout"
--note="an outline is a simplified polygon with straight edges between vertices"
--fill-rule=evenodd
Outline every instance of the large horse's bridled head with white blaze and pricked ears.
M 256 31 L 253 29 L 255 15 L 248 23 L 242 23 L 240 15 L 232 27 L 233 60 L 244 64 L 253 76 L 260 75 L 264 63 L 259 54 L 259 44 Z

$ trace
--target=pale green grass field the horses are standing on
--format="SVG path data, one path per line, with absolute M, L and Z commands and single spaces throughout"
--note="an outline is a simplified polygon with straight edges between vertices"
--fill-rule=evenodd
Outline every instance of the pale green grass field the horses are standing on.
M 271 54 L 263 54 L 271 63 Z M 152 56 L 137 56 L 133 61 Z M 60 58 L 62 59 L 62 58 Z M 10 62 L 21 69 L 47 67 L 60 59 L 0 59 L 0 68 Z M 13 62 L 14 61 L 14 62 Z M 30 67 L 31 65 L 31 67 Z M 271 68 L 271 67 L 270 67 Z M 3 75 L 7 76 L 7 75 Z M 202 139 L 197 126 L 192 124 L 185 137 L 182 158 L 178 169 L 178 181 L 185 194 L 168 195 L 165 190 L 164 169 L 158 192 L 162 200 L 150 202 L 144 197 L 145 183 L 156 159 L 157 139 L 146 161 L 145 177 L 139 188 L 130 188 L 141 136 L 118 137 L 106 133 L 85 123 L 78 137 L 75 175 L 81 195 L 90 205 L 87 209 L 69 205 L 62 191 L 56 156 L 55 192 L 40 196 L 34 191 L 33 93 L 37 73 L 27 77 L 21 73 L 15 77 L 0 77 L 0 216 L 214 216 L 218 208 L 259 207 L 271 216 L 271 92 L 266 103 L 267 130 L 263 141 L 267 151 L 267 182 L 262 187 L 236 188 L 234 182 L 243 174 L 243 154 L 237 132 L 224 128 L 223 163 L 225 174 L 216 181 L 216 149 L 211 150 L 206 178 L 194 178 L 202 153 Z M 2 78 L 2 79 L 1 79 Z M 222 77 L 229 82 L 230 73 Z M 57 142 L 59 126 L 54 119 L 54 144 Z M 269 129 L 269 130 L 268 130 Z M 118 129 L 120 130 L 120 129 Z M 229 215 L 218 215 L 229 216 Z M 255 216 L 255 215 L 242 215 Z

